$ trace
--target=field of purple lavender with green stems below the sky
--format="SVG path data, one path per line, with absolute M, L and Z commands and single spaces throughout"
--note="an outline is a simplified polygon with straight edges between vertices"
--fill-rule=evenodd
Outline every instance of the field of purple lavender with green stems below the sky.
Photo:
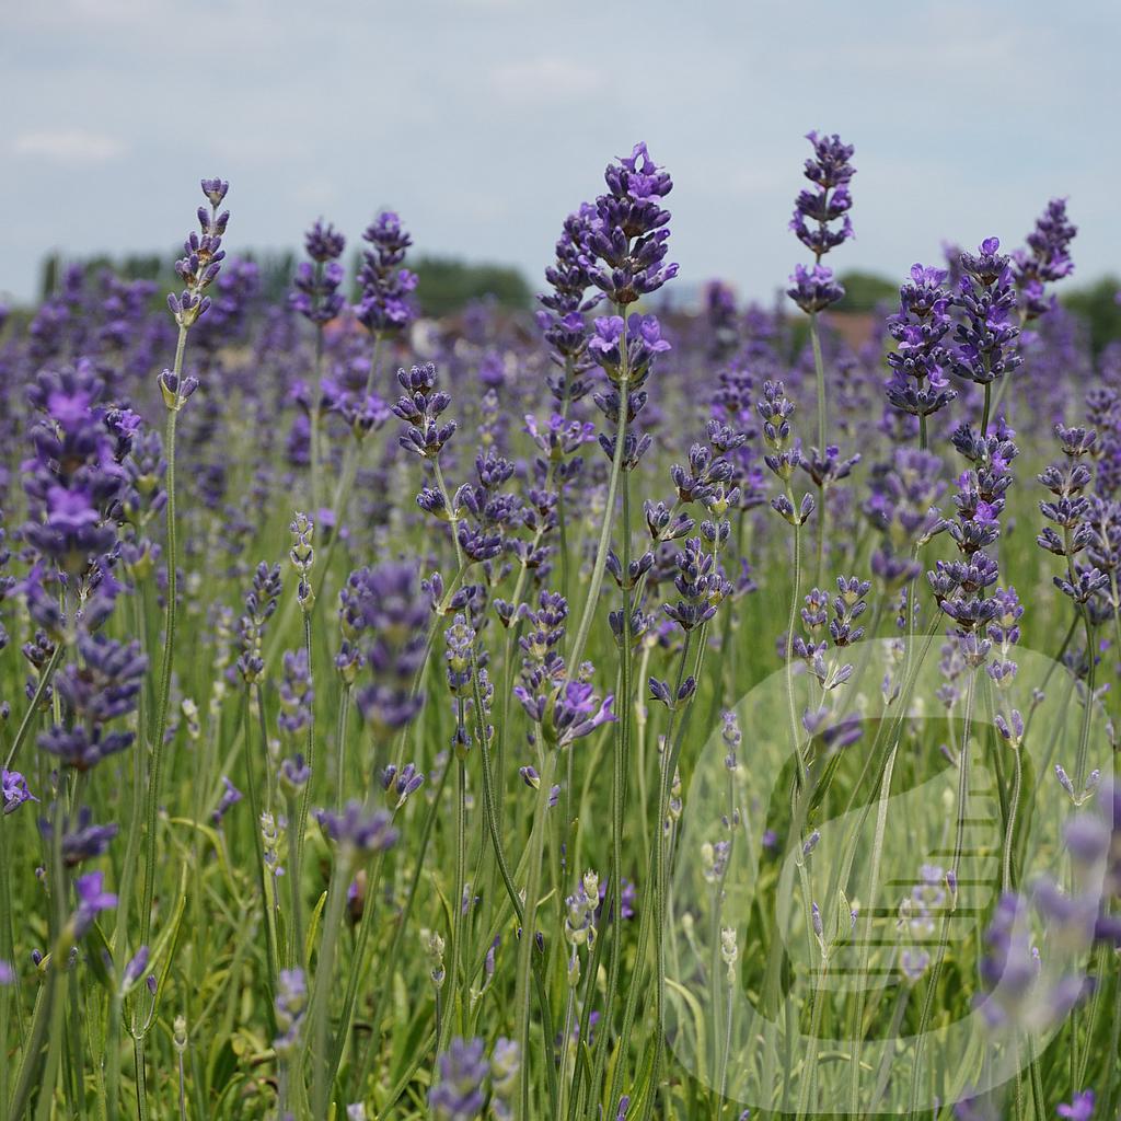
M 0 1121 L 1121 1117 L 1075 206 L 855 317 L 810 132 L 689 302 L 656 139 L 536 309 L 421 316 L 407 201 L 270 298 L 204 178 L 0 321 Z

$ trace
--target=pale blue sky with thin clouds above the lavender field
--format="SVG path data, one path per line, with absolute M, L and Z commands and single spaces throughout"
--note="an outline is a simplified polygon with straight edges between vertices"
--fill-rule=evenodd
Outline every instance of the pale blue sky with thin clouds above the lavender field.
M 1119 41 L 1118 0 L 0 0 L 0 294 L 52 250 L 172 249 L 204 175 L 233 254 L 319 216 L 353 247 L 389 206 L 417 252 L 536 285 L 645 140 L 680 284 L 769 299 L 810 129 L 856 147 L 839 271 L 1012 248 L 1065 196 L 1092 280 L 1121 257 Z

